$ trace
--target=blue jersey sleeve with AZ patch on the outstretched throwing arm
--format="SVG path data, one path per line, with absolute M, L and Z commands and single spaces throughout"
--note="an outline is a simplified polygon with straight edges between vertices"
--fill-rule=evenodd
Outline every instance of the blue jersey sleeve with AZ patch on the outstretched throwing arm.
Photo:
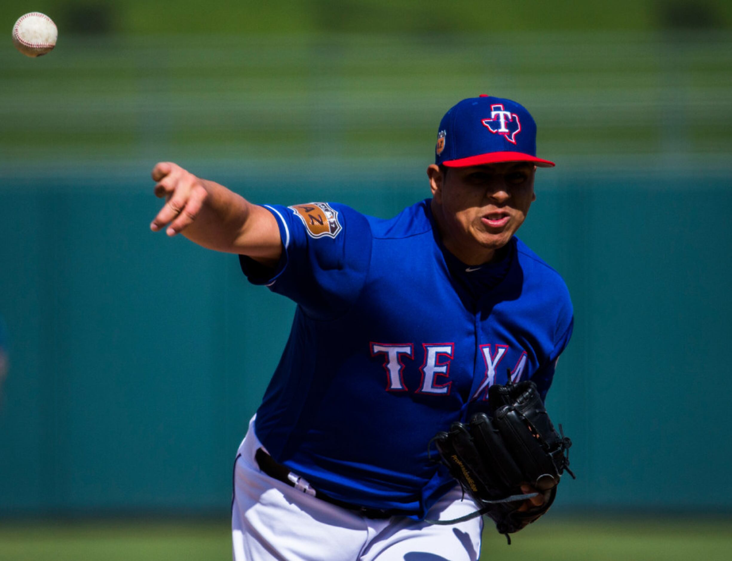
M 277 220 L 283 252 L 275 268 L 239 256 L 255 285 L 287 296 L 318 320 L 342 315 L 356 301 L 370 264 L 372 235 L 366 217 L 345 205 L 264 205 Z

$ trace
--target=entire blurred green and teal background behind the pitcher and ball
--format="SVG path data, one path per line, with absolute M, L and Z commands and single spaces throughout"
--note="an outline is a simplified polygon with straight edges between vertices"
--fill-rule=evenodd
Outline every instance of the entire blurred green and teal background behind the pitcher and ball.
M 59 26 L 40 59 L 10 40 L 30 11 Z M 557 162 L 520 237 L 575 304 L 548 408 L 578 474 L 483 558 L 732 558 L 732 3 L 37 0 L 2 26 L 0 560 L 230 558 L 294 308 L 150 232 L 155 162 L 389 217 L 482 93 Z

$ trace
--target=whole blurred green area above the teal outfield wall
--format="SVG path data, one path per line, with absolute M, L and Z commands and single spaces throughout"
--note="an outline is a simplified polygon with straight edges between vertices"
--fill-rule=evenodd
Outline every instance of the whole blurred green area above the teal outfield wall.
M 517 99 L 549 159 L 732 150 L 732 2 L 39 0 L 0 5 L 0 167 L 430 157 L 458 99 Z M 673 14 L 673 15 L 670 15 Z M 673 20 L 673 23 L 670 23 Z M 668 162 L 666 162 L 668 163 Z

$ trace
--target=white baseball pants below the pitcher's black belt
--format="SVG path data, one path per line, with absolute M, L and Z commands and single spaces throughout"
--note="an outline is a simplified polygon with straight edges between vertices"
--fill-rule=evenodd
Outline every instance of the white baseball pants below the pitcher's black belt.
M 369 519 L 316 499 L 259 470 L 253 426 L 254 419 L 234 464 L 234 561 L 477 561 L 482 518 L 449 526 Z M 427 518 L 455 519 L 477 508 L 456 486 Z

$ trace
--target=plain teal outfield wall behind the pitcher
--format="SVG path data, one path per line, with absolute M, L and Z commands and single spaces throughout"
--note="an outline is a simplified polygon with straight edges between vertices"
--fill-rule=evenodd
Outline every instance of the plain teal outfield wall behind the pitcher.
M 236 257 L 151 233 L 148 173 L 2 178 L 0 515 L 228 509 L 293 306 Z M 386 217 L 427 195 L 418 173 L 212 177 Z M 731 178 L 540 173 L 521 237 L 576 317 L 548 397 L 578 473 L 558 508 L 728 510 Z

